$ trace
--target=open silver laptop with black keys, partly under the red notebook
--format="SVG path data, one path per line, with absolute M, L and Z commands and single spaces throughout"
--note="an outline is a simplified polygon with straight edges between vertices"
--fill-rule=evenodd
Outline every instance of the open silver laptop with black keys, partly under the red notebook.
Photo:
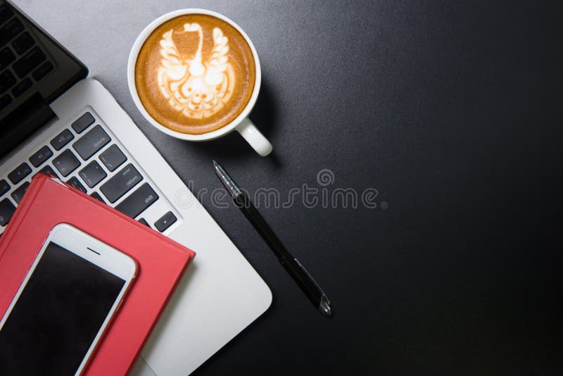
M 187 375 L 265 312 L 272 294 L 87 74 L 69 51 L 0 0 L 0 234 L 31 178 L 51 173 L 196 251 L 133 369 Z

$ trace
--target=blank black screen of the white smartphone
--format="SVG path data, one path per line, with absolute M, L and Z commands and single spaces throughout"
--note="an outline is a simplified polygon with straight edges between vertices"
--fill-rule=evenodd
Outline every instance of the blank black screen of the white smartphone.
M 124 284 L 50 242 L 0 330 L 0 375 L 74 375 Z

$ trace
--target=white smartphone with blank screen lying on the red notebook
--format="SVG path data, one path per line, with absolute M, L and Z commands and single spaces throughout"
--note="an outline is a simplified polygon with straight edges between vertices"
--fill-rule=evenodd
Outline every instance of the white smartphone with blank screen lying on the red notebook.
M 56 225 L 0 322 L 0 375 L 80 375 L 137 263 Z

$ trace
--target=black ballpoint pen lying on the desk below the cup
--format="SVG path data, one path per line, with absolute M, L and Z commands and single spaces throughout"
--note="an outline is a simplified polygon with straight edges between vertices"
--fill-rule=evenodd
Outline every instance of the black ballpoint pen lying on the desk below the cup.
M 262 218 L 262 215 L 258 213 L 258 210 L 256 210 L 248 196 L 236 186 L 231 177 L 227 175 L 224 168 L 215 161 L 213 161 L 213 165 L 215 166 L 215 174 L 217 174 L 219 180 L 221 180 L 224 187 L 229 194 L 231 194 L 236 206 L 241 209 L 262 239 L 264 239 L 272 251 L 274 251 L 281 265 L 284 265 L 289 275 L 291 275 L 293 280 L 298 284 L 301 290 L 303 290 L 305 295 L 307 295 L 315 308 L 323 315 L 331 315 L 332 308 L 327 294 L 324 294 L 319 284 L 313 280 L 309 272 L 303 268 L 303 265 L 299 263 L 297 258 L 291 256 L 285 249 L 276 234 L 274 234 L 270 226 L 268 226 L 264 218 Z

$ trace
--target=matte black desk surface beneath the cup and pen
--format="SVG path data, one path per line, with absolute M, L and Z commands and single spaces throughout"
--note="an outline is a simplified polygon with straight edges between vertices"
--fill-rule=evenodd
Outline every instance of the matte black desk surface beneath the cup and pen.
M 557 6 L 16 3 L 86 63 L 194 190 L 220 187 L 211 158 L 251 194 L 274 188 L 287 199 L 303 184 L 320 195 L 377 189 L 377 208 L 260 209 L 326 289 L 329 319 L 238 209 L 203 196 L 274 301 L 199 375 L 562 374 Z M 134 39 L 158 15 L 186 7 L 224 13 L 253 40 L 263 80 L 251 119 L 272 156 L 260 158 L 238 134 L 172 139 L 134 107 L 125 75 Z M 332 184 L 317 183 L 322 169 Z

